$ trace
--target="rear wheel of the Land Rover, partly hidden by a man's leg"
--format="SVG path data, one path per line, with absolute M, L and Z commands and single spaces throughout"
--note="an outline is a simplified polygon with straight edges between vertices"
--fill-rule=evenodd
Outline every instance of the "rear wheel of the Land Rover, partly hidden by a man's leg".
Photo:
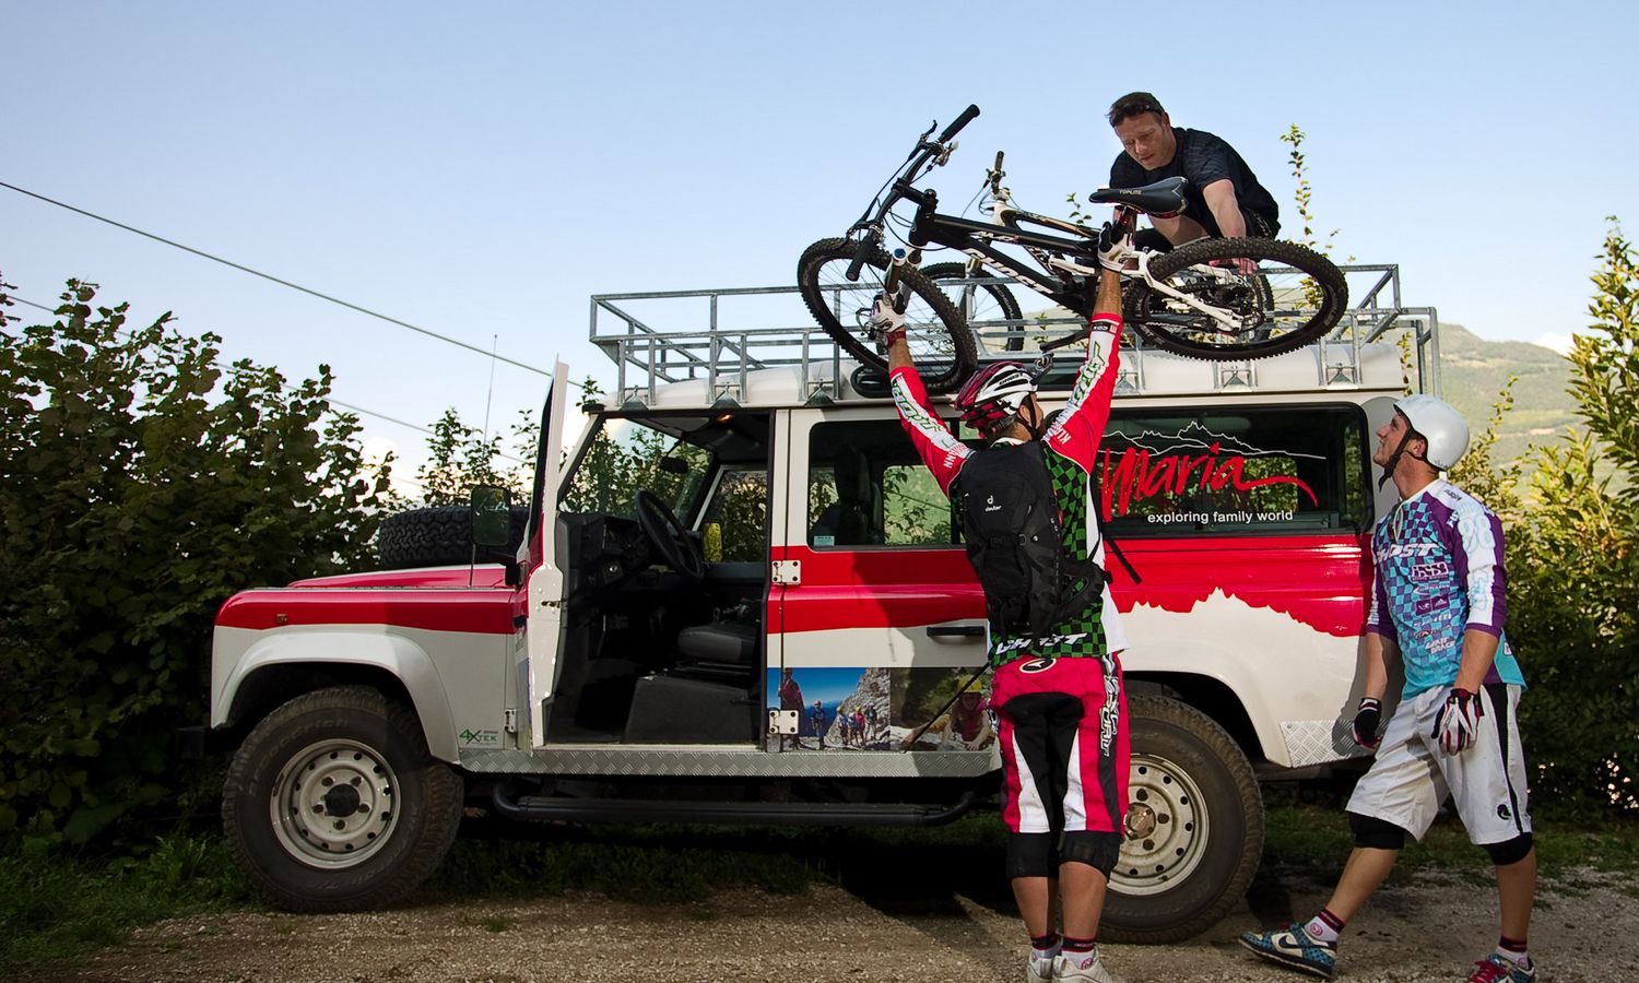
M 1241 747 L 1193 706 L 1133 696 L 1128 723 L 1126 837 L 1110 872 L 1105 935 L 1178 942 L 1214 926 L 1251 886 L 1264 800 Z

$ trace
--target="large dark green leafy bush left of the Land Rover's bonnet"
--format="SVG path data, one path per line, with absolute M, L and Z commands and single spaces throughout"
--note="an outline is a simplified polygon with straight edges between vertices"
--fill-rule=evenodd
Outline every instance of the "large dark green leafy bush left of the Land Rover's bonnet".
M 361 477 L 328 367 L 223 367 L 218 336 L 95 295 L 0 316 L 0 832 L 48 842 L 187 800 L 215 611 L 362 562 L 390 477 Z

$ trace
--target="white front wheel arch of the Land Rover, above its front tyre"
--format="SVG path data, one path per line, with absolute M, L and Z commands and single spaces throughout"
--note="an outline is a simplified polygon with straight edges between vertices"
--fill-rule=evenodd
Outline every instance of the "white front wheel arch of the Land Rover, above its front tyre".
M 215 703 L 211 727 L 241 727 L 302 693 L 367 685 L 415 709 L 428 754 L 459 763 L 444 683 L 421 646 L 402 636 L 315 632 L 264 637 L 238 660 Z

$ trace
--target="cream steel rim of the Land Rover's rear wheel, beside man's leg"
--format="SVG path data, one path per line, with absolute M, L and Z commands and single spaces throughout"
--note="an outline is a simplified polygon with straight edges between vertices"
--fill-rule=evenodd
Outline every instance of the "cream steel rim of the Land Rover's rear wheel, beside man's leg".
M 1123 895 L 1170 891 L 1206 858 L 1211 822 L 1200 785 L 1164 757 L 1133 755 L 1126 826 L 1110 872 L 1111 888 Z

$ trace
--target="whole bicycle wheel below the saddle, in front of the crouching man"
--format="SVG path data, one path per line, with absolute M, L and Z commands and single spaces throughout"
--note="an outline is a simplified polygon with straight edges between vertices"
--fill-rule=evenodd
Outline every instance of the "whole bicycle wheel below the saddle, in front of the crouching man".
M 1257 262 L 1257 274 L 1211 265 L 1229 259 Z M 1149 272 L 1206 310 L 1141 287 L 1128 321 L 1157 347 L 1195 359 L 1290 352 L 1331 331 L 1349 306 L 1342 270 L 1296 242 L 1198 239 L 1157 256 Z

